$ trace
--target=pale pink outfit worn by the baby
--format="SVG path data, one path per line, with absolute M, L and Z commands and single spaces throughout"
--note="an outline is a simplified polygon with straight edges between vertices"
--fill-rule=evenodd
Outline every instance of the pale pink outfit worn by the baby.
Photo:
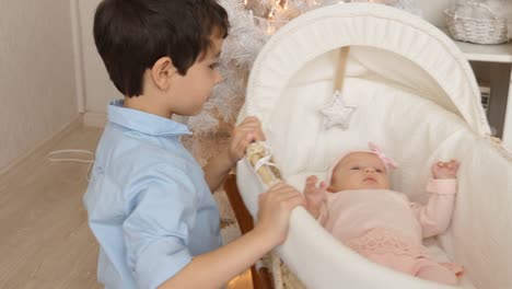
M 442 284 L 456 285 L 462 267 L 433 261 L 422 239 L 442 233 L 450 224 L 456 180 L 430 180 L 427 206 L 387 189 L 341 190 L 326 194 L 318 221 L 335 238 L 362 256 Z

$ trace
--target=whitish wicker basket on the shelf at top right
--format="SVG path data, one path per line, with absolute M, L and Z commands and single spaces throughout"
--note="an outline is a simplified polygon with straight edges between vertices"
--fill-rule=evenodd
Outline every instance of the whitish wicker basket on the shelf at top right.
M 481 3 L 470 2 L 467 5 L 484 8 L 494 15 L 488 7 Z M 464 18 L 458 16 L 456 10 L 455 8 L 444 11 L 447 27 L 454 39 L 477 44 L 500 44 L 509 41 L 507 19 L 497 16 L 492 19 Z

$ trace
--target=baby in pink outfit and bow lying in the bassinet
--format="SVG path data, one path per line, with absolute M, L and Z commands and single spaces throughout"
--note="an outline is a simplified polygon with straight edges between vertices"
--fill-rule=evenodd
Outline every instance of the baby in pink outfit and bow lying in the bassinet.
M 462 267 L 435 262 L 422 239 L 442 233 L 450 224 L 458 162 L 432 166 L 427 206 L 391 190 L 389 170 L 395 167 L 395 161 L 373 143 L 369 151 L 348 152 L 329 170 L 327 182 L 317 186 L 316 176 L 307 177 L 306 209 L 360 255 L 419 278 L 456 285 Z

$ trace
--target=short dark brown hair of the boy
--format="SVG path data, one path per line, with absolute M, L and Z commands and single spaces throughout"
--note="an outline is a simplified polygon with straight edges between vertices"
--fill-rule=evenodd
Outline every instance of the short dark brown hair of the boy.
M 228 36 L 228 13 L 216 0 L 104 0 L 94 42 L 117 90 L 138 96 L 144 71 L 162 57 L 185 76 L 211 46 L 214 28 Z

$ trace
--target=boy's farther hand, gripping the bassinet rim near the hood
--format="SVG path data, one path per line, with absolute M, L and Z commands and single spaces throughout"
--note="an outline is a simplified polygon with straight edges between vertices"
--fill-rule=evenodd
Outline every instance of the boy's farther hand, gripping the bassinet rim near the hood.
M 247 146 L 257 140 L 265 140 L 258 118 L 249 116 L 233 130 L 229 149 L 230 161 L 234 164 L 245 155 Z

